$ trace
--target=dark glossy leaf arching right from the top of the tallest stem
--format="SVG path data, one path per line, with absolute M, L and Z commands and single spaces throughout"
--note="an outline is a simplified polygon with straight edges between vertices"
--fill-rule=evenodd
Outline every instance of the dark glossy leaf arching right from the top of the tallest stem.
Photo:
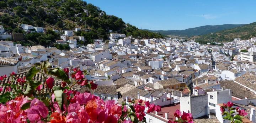
M 48 73 L 70 84 L 68 75 L 66 75 L 66 73 L 62 69 L 59 69 L 59 68 L 50 69 Z

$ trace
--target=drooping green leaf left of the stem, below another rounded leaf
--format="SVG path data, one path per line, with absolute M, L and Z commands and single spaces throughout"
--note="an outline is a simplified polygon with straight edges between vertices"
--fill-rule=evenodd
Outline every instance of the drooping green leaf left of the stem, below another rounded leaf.
M 24 95 L 25 95 L 25 96 L 28 96 L 28 97 L 31 97 L 32 94 L 33 94 L 33 92 L 34 92 L 34 90 L 35 90 L 40 84 L 41 84 L 40 81 L 37 81 L 37 80 L 32 81 L 32 80 L 30 80 L 30 81 L 28 82 L 27 89 L 26 89 L 26 91 L 24 92 Z

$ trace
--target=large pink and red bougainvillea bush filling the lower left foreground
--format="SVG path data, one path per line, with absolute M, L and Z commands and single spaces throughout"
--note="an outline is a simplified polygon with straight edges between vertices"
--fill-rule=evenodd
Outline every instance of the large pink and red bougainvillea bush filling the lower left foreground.
M 44 84 L 35 80 L 36 74 L 41 74 Z M 52 68 L 48 61 L 35 64 L 27 71 L 25 77 L 10 74 L 11 82 L 4 84 L 5 93 L 0 96 L 0 122 L 4 123 L 137 123 L 146 122 L 145 115 L 153 111 L 161 111 L 161 106 L 138 100 L 104 101 L 91 93 L 80 93 L 72 88 L 75 85 L 96 89 L 97 84 L 85 78 L 86 71 L 74 68 Z M 48 75 L 53 75 L 49 76 Z M 4 80 L 7 76 L 0 76 Z M 14 81 L 19 84 L 11 84 Z M 55 79 L 62 80 L 60 86 L 54 86 Z M 27 85 L 25 92 L 20 87 Z M 43 87 L 47 93 L 41 93 Z M 11 91 L 12 88 L 12 91 Z M 0 91 L 2 91 L 2 87 Z M 177 112 L 179 121 L 191 122 L 189 113 Z M 169 121 L 171 122 L 171 121 Z M 193 121 L 192 121 L 193 122 Z

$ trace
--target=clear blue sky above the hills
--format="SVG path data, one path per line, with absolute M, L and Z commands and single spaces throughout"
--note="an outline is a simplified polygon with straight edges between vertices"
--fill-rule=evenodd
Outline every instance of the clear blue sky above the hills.
M 256 22 L 256 0 L 85 0 L 124 22 L 151 30 Z

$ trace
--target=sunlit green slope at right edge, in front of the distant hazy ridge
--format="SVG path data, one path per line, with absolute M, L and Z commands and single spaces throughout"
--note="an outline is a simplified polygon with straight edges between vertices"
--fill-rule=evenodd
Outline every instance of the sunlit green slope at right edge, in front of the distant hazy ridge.
M 193 37 L 197 42 L 207 43 L 207 42 L 229 42 L 233 41 L 235 38 L 241 38 L 242 40 L 250 39 L 251 37 L 256 37 L 256 22 L 246 24 L 241 27 L 236 27 L 233 29 L 218 31 L 216 33 L 201 35 Z

